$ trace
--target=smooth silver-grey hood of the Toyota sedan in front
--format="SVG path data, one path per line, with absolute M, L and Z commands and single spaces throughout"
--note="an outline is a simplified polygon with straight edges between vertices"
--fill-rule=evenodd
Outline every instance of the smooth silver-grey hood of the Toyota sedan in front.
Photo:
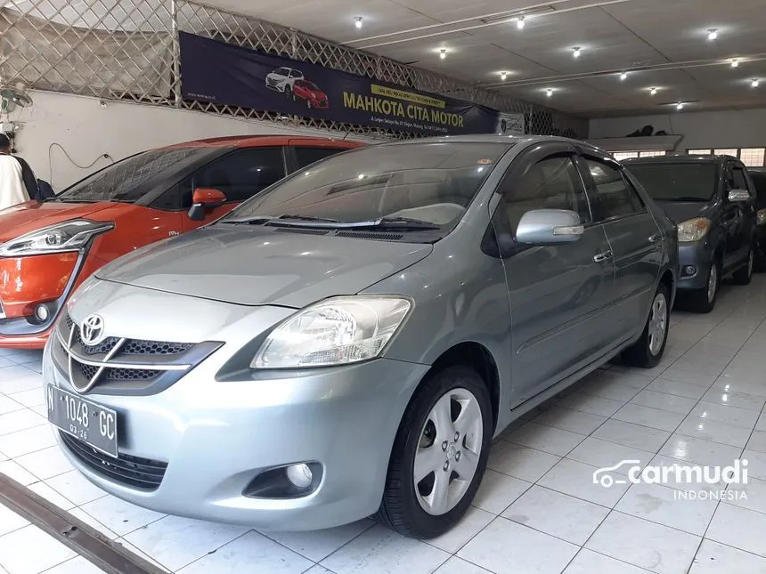
M 432 249 L 305 231 L 215 225 L 126 255 L 96 276 L 225 303 L 301 308 L 354 295 Z

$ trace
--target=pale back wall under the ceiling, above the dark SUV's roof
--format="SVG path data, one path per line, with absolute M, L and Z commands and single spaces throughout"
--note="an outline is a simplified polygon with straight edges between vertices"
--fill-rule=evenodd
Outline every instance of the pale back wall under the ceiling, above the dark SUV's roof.
M 766 147 L 766 108 L 673 112 L 662 116 L 591 119 L 589 139 L 623 137 L 644 125 L 683 135 L 677 150 Z

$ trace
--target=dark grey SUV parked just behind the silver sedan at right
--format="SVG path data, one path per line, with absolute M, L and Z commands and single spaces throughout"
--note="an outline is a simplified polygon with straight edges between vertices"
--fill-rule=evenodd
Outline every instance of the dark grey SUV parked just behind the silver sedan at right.
M 729 156 L 664 156 L 623 162 L 678 225 L 678 303 L 713 309 L 721 279 L 746 285 L 755 255 L 755 190 Z

